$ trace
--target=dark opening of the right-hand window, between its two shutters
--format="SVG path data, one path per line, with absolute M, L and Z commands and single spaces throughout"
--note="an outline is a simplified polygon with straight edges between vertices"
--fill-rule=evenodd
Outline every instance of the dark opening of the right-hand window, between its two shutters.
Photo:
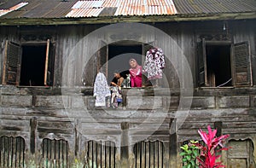
M 232 86 L 230 45 L 207 45 L 206 55 L 209 86 Z

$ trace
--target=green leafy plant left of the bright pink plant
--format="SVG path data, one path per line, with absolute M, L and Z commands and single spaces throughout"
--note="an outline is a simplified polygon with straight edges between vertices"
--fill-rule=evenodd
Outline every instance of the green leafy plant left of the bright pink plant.
M 199 156 L 198 147 L 195 146 L 198 142 L 190 141 L 189 144 L 183 145 L 181 148 L 183 152 L 180 156 L 183 156 L 183 168 L 198 168 L 196 165 L 196 158 Z

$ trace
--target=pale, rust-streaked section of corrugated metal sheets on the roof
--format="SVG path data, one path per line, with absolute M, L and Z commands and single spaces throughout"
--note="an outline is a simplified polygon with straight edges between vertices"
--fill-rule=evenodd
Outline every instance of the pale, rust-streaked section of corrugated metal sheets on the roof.
M 172 0 L 106 0 L 79 1 L 67 17 L 90 17 L 101 14 L 106 7 L 117 7 L 114 15 L 176 14 Z M 106 14 L 104 14 L 106 15 Z

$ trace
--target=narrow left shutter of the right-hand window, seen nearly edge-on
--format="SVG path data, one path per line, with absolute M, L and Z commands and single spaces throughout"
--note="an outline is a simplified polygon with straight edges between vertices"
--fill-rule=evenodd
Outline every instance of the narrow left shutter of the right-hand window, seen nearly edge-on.
M 199 86 L 207 86 L 207 52 L 206 41 L 203 38 L 201 43 L 197 45 L 198 55 L 198 84 Z

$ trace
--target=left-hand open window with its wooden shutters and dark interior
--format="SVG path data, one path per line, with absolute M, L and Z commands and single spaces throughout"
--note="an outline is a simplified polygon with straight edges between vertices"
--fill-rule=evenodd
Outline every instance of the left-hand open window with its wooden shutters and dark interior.
M 48 86 L 53 81 L 54 47 L 46 43 L 7 42 L 4 55 L 3 84 Z

